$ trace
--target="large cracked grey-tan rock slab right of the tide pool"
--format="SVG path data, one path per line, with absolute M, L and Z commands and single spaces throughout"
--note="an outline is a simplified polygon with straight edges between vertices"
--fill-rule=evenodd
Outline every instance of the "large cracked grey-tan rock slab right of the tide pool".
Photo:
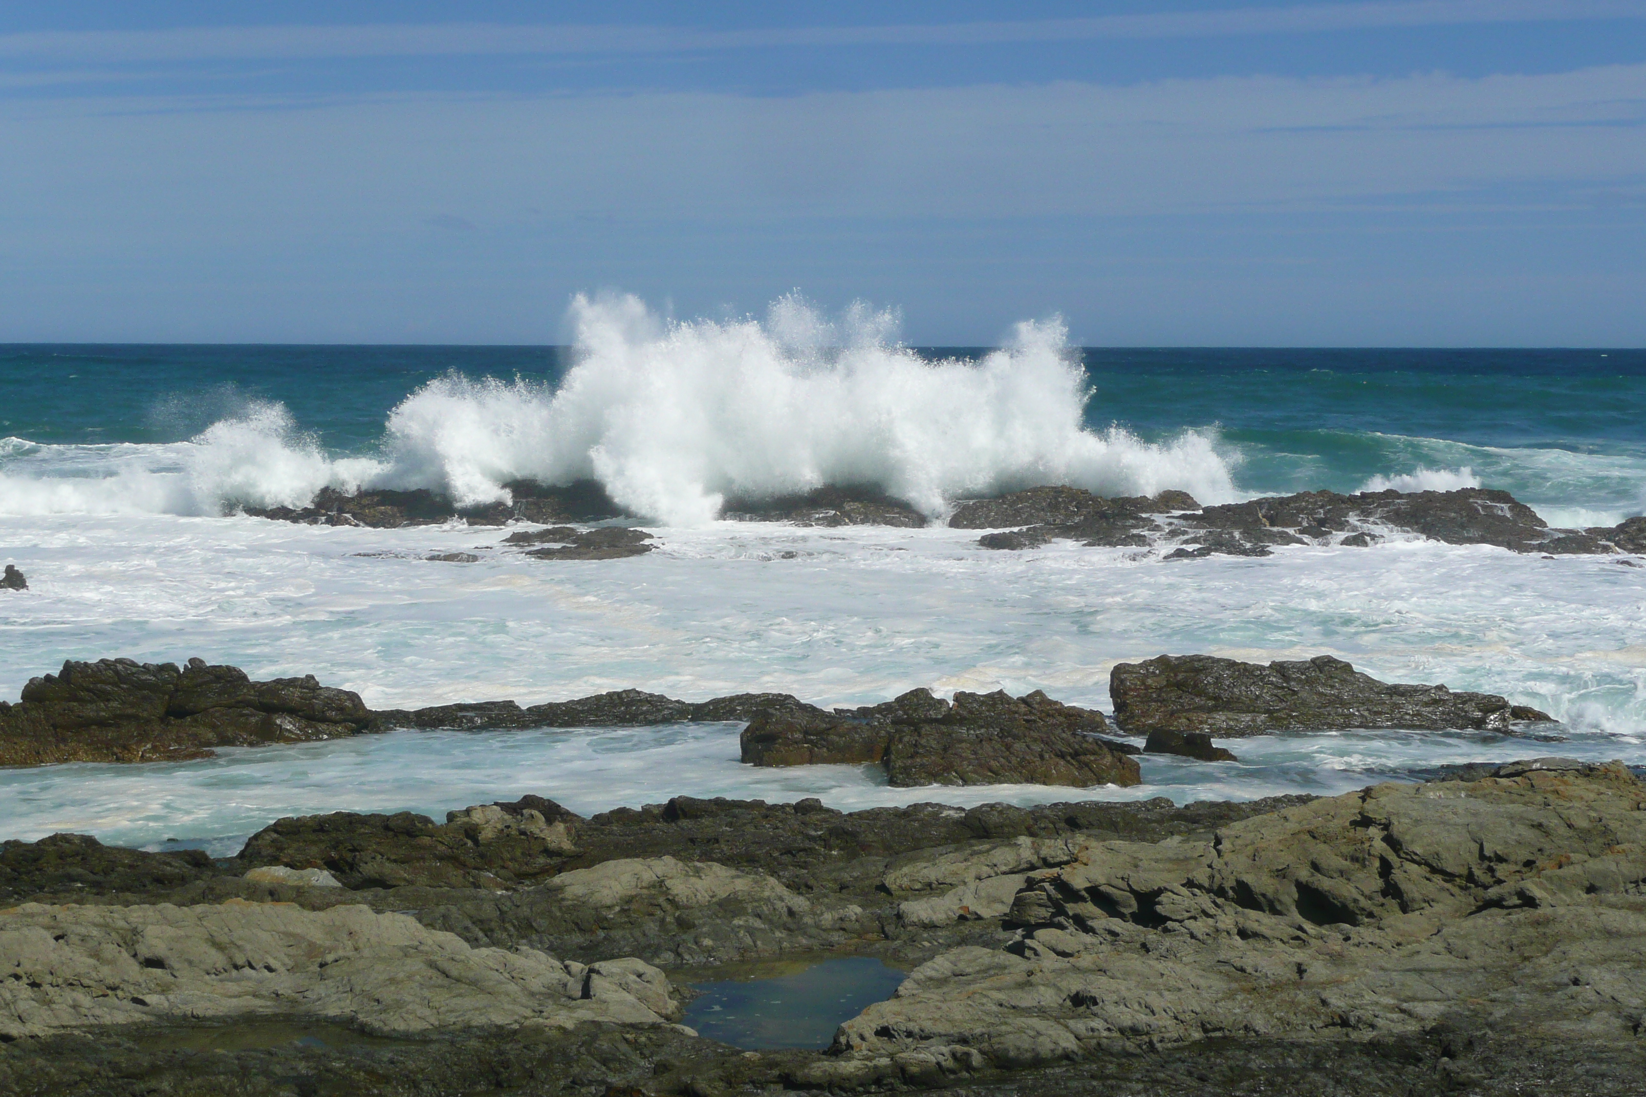
M 1213 842 L 1052 852 L 1012 868 L 1012 944 L 922 965 L 802 1081 L 1435 1026 L 1643 1061 L 1646 789 L 1620 765 L 1379 785 Z

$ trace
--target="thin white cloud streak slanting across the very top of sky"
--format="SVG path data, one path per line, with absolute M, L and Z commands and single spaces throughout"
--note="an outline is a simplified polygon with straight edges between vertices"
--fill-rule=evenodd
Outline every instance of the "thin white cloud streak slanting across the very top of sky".
M 617 25 L 202 26 L 153 31 L 0 35 L 18 61 L 186 62 L 298 58 L 657 54 L 780 46 L 958 46 L 1034 41 L 1205 38 L 1394 26 L 1646 18 L 1646 0 L 1394 0 L 1207 12 L 882 26 L 700 30 Z

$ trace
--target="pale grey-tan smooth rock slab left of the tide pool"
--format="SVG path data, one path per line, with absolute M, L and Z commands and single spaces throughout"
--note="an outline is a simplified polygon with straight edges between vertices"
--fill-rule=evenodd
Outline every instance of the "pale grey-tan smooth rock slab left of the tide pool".
M 222 906 L 0 911 L 0 1039 L 158 1020 L 316 1016 L 369 1033 L 660 1025 L 678 1016 L 640 960 L 566 964 L 471 949 L 405 914 Z

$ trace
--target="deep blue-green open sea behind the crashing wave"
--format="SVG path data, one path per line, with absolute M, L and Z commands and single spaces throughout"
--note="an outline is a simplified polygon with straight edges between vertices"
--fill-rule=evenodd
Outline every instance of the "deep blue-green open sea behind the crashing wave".
M 930 357 L 976 349 L 928 349 Z M 1460 470 L 1534 505 L 1646 502 L 1646 350 L 1085 349 L 1086 423 L 1215 431 L 1249 492 L 1356 490 Z M 369 452 L 425 382 L 553 385 L 556 347 L 5 345 L 0 437 L 171 442 L 250 400 L 332 452 Z

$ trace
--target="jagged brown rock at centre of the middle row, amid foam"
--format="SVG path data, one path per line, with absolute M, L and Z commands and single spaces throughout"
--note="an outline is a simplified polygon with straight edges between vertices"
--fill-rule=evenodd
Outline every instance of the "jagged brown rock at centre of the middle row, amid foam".
M 769 709 L 741 737 L 752 765 L 884 761 L 895 786 L 1137 785 L 1136 747 L 1104 740 L 1101 712 L 1052 701 L 927 689 L 851 712 Z

